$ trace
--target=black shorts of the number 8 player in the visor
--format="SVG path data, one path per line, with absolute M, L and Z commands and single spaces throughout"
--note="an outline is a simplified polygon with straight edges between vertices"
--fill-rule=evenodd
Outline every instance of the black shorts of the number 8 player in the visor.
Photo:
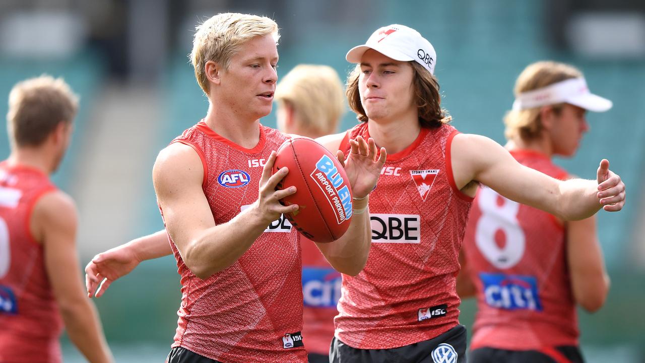
M 541 350 L 506 350 L 483 347 L 468 355 L 470 363 L 583 363 L 578 347 L 560 346 Z

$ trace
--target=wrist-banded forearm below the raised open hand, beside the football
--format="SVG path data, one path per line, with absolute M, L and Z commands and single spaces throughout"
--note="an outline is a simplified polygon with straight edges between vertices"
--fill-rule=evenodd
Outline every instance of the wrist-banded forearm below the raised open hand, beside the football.
M 329 244 L 317 244 L 330 265 L 346 275 L 358 275 L 370 254 L 372 226 L 368 198 L 353 201 L 353 211 L 359 214 L 353 214 L 350 227 L 341 238 Z

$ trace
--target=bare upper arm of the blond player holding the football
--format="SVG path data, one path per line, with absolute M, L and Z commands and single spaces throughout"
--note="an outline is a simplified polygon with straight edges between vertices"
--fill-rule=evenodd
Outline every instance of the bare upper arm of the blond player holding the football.
M 172 144 L 155 161 L 153 182 L 166 230 L 179 251 L 204 229 L 215 226 L 202 189 L 203 164 L 197 152 Z

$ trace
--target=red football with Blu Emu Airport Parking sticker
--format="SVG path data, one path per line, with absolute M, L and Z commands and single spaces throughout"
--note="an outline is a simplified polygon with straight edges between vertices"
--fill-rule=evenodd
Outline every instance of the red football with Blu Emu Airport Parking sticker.
M 285 214 L 295 229 L 314 242 L 337 240 L 352 220 L 352 189 L 345 170 L 323 145 L 310 138 L 284 141 L 277 150 L 273 172 L 288 167 L 277 189 L 296 187 L 281 202 L 299 209 Z

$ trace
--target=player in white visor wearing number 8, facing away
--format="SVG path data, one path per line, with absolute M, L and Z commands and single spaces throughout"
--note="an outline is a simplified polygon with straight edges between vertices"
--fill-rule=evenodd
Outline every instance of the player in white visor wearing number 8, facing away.
M 589 130 L 587 110 L 610 108 L 577 68 L 533 63 L 517 78 L 504 118 L 506 149 L 522 165 L 566 180 L 551 158 L 575 154 Z M 576 305 L 596 311 L 609 290 L 594 216 L 566 222 L 482 188 L 462 252 L 459 292 L 476 295 L 478 307 L 471 362 L 583 361 Z

